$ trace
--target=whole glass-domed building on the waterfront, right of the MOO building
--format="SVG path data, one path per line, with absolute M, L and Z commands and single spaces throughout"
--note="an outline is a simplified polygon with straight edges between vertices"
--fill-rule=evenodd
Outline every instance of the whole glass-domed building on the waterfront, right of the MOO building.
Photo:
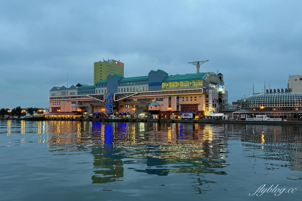
M 263 109 L 261 109 L 264 107 Z M 302 114 L 302 93 L 277 92 L 253 94 L 241 101 L 240 110 L 233 117 L 252 118 L 256 115 L 270 118 L 299 119 Z

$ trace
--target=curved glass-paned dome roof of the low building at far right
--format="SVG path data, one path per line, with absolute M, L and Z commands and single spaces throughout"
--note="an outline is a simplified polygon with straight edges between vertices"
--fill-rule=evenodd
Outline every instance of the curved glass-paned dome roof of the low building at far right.
M 241 101 L 241 108 L 301 107 L 302 93 L 278 92 L 253 94 Z

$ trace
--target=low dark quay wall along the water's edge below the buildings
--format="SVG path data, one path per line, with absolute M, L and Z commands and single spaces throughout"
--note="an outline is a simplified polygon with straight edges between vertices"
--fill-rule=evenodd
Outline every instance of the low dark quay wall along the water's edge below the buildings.
M 15 118 L 1 118 L 1 120 L 16 120 Z M 95 121 L 104 122 L 104 119 L 44 119 L 44 121 Z M 238 124 L 268 124 L 268 125 L 302 125 L 302 121 L 246 121 L 246 120 L 169 120 L 169 119 L 127 119 L 127 122 L 158 122 L 158 123 L 238 123 Z

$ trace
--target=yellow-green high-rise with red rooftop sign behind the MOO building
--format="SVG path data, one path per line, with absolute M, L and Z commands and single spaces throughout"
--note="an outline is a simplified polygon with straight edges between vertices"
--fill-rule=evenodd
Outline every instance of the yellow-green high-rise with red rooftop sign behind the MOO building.
M 106 80 L 108 75 L 121 75 L 124 76 L 124 63 L 108 59 L 107 61 L 94 62 L 93 64 L 93 84 L 100 80 Z

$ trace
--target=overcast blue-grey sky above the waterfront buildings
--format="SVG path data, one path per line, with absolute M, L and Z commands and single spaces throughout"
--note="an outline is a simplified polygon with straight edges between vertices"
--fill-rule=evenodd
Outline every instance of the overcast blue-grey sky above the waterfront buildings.
M 48 107 L 53 86 L 93 85 L 93 62 L 125 77 L 221 72 L 229 101 L 301 75 L 301 1 L 0 1 L 0 107 Z

